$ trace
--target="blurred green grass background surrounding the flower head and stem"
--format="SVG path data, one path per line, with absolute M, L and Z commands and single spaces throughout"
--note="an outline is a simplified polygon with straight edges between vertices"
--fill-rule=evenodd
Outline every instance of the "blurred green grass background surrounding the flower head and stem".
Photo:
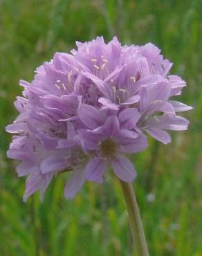
M 188 131 L 172 144 L 149 140 L 134 156 L 134 182 L 151 256 L 202 255 L 202 1 L 201 0 L 1 0 L 0 1 L 0 255 L 135 255 L 122 192 L 109 174 L 103 186 L 86 183 L 73 201 L 63 196 L 65 175 L 45 194 L 22 202 L 24 178 L 6 159 L 10 135 L 4 127 L 17 116 L 12 102 L 18 80 L 55 51 L 75 40 L 117 35 L 122 44 L 152 42 L 174 62 L 172 73 L 188 86 L 180 99 Z

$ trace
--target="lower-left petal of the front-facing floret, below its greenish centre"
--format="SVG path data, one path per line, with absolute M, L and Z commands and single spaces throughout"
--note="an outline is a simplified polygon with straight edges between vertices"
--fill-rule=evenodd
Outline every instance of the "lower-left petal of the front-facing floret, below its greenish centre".
M 89 160 L 84 167 L 84 174 L 89 181 L 98 181 L 102 178 L 107 167 L 107 161 L 100 157 L 94 157 Z

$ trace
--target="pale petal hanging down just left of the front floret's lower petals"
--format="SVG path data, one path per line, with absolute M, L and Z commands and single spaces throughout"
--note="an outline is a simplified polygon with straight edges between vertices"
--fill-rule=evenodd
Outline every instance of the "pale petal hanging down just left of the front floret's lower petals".
M 68 179 L 64 188 L 64 197 L 66 199 L 73 199 L 82 185 L 84 184 L 86 178 L 82 170 L 74 170 L 71 177 Z

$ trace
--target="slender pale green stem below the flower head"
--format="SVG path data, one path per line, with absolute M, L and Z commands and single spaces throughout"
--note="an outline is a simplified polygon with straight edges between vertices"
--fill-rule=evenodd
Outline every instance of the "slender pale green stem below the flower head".
M 127 212 L 129 214 L 129 221 L 131 224 L 131 230 L 134 236 L 134 243 L 138 256 L 149 256 L 147 249 L 147 243 L 145 240 L 145 234 L 143 230 L 143 224 L 140 218 L 140 212 L 138 210 L 138 203 L 131 183 L 127 183 L 120 180 L 122 193 L 125 197 L 125 203 L 127 205 Z

